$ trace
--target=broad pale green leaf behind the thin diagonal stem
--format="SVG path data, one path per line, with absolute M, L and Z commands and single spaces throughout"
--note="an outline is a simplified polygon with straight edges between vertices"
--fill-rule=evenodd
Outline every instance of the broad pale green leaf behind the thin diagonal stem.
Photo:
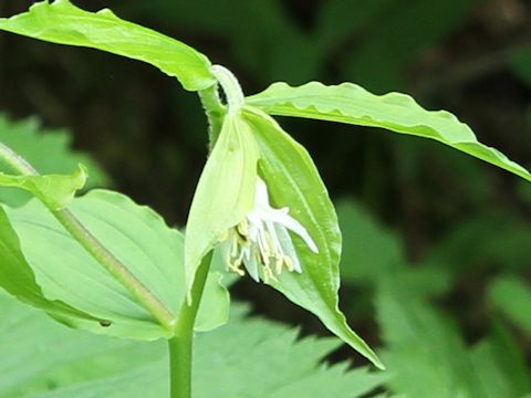
M 168 228 L 147 207 L 117 192 L 93 190 L 69 207 L 81 222 L 115 254 L 166 306 L 177 313 L 185 297 L 184 238 Z M 108 321 L 102 325 L 61 320 L 73 327 L 121 337 L 154 339 L 170 337 L 135 297 L 100 265 L 44 209 L 32 200 L 8 216 L 22 251 L 50 300 L 61 300 Z M 207 282 L 206 307 L 200 329 L 225 322 L 228 295 L 220 292 L 219 277 Z M 217 304 L 217 305 L 215 305 Z M 218 313 L 219 312 L 219 313 Z

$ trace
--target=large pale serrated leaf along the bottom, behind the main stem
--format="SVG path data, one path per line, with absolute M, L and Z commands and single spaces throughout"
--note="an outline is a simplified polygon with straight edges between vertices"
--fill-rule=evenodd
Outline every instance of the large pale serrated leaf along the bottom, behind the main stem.
M 337 342 L 298 341 L 296 331 L 244 317 L 246 313 L 236 305 L 226 326 L 198 335 L 194 397 L 356 398 L 386 378 L 366 368 L 348 370 L 347 364 L 320 364 Z M 147 386 L 150 396 L 169 394 L 163 342 L 70 331 L 4 296 L 0 296 L 0 314 L 2 397 L 140 398 Z

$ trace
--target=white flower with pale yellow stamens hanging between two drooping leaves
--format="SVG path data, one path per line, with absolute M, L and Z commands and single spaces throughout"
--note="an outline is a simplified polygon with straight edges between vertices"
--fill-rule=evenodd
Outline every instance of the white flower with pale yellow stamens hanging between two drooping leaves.
M 279 275 L 284 266 L 291 272 L 302 272 L 288 230 L 301 237 L 314 253 L 319 253 L 319 249 L 306 229 L 289 216 L 289 208 L 271 207 L 268 187 L 258 178 L 254 208 L 220 238 L 227 268 L 243 275 L 243 265 L 257 282 L 260 276 L 266 282 L 277 280 L 274 275 Z

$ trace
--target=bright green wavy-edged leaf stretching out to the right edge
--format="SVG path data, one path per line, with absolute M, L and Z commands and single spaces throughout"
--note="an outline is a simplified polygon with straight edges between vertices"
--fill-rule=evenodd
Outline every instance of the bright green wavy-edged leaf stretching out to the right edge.
M 382 127 L 435 139 L 531 180 L 528 170 L 499 150 L 480 144 L 470 127 L 452 114 L 426 111 L 408 95 L 374 95 L 352 83 L 326 86 L 312 82 L 299 87 L 274 83 L 266 91 L 248 97 L 247 103 L 271 115 Z

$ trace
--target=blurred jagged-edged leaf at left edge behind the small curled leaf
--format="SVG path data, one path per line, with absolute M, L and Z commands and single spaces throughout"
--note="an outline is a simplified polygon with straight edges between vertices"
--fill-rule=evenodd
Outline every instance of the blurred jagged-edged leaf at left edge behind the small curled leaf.
M 92 157 L 72 149 L 72 136 L 67 130 L 43 129 L 35 118 L 12 122 L 0 114 L 0 142 L 10 148 L 15 148 L 17 154 L 27 159 L 42 175 L 67 174 L 79 164 L 83 164 L 90 172 L 85 189 L 110 184 L 108 176 Z M 1 170 L 11 171 L 9 167 L 3 167 Z M 0 202 L 11 207 L 21 206 L 31 197 L 22 190 L 0 188 Z

